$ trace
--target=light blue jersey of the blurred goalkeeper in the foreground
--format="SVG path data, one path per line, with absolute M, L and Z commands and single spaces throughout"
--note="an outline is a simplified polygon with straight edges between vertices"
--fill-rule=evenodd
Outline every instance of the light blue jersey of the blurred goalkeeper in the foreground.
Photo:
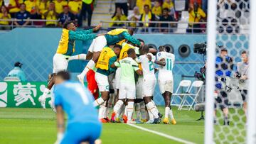
M 69 123 L 100 123 L 92 104 L 92 94 L 78 82 L 66 81 L 55 85 L 55 106 L 62 106 Z

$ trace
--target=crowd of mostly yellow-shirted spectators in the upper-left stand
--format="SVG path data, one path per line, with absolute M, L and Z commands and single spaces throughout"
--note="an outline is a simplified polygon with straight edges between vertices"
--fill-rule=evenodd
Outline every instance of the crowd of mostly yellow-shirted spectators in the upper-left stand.
M 33 23 L 36 26 L 61 27 L 65 21 L 75 21 L 78 26 L 82 26 L 82 20 L 87 14 L 87 26 L 90 26 L 92 4 L 92 0 L 10 0 L 9 5 L 6 6 L 4 0 L 0 0 L 0 19 L 14 18 L 20 20 L 14 22 L 15 26 L 27 26 Z M 46 19 L 49 21 L 46 23 L 43 21 L 32 22 L 29 19 Z M 0 25 L 9 25 L 9 22 L 0 21 Z

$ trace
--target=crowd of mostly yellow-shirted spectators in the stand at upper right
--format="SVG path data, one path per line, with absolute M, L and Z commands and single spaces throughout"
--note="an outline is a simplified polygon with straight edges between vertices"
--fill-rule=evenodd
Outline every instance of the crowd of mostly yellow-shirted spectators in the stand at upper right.
M 206 3 L 205 3 L 206 4 Z M 128 13 L 128 5 L 134 5 L 132 13 Z M 122 21 L 143 21 L 144 23 L 129 23 L 134 28 L 143 27 L 140 31 L 156 31 L 169 33 L 176 28 L 176 23 L 151 23 L 151 21 L 179 21 L 181 11 L 176 11 L 174 0 L 137 0 L 136 4 L 127 3 L 127 0 L 117 0 L 116 11 L 112 16 L 110 27 L 125 26 Z M 189 13 L 189 27 L 205 28 L 206 25 L 193 24 L 206 21 L 206 11 L 203 11 L 202 0 L 186 0 L 184 11 Z M 118 22 L 120 21 L 120 22 Z M 157 28 L 154 28 L 157 27 Z M 188 28 L 188 32 L 190 32 Z M 193 31 L 201 33 L 201 30 Z

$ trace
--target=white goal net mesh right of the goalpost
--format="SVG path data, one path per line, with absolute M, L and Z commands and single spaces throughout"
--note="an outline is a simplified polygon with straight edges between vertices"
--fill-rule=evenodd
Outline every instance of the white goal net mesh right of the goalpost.
M 242 94 L 246 95 L 246 91 L 240 92 L 240 89 L 247 88 L 241 88 L 241 78 L 235 77 L 235 72 L 241 62 L 241 52 L 248 49 L 249 15 L 249 0 L 218 1 L 216 42 L 222 46 L 216 50 L 215 143 L 245 143 L 246 114 L 242 109 Z M 223 48 L 228 50 L 228 55 Z

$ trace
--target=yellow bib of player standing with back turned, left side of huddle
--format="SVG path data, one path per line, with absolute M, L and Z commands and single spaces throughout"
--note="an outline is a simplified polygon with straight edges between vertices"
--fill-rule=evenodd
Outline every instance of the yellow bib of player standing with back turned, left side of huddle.
M 100 57 L 97 60 L 96 68 L 101 70 L 109 70 L 110 59 L 116 56 L 114 50 L 109 47 L 105 47 L 100 52 Z

